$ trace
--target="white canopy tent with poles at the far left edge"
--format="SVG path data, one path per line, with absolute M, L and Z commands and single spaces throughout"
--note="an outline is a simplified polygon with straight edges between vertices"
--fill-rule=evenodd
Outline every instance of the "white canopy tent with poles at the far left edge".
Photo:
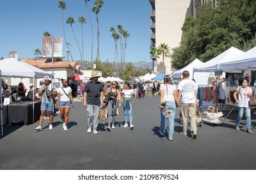
M 27 63 L 22 61 L 18 61 L 18 59 L 7 58 L 0 61 L 0 70 L 1 70 L 1 78 L 2 77 L 13 77 L 13 78 L 43 78 L 44 76 L 49 76 L 53 78 L 53 75 L 38 69 L 37 67 L 33 67 Z M 34 84 L 34 83 L 33 83 Z M 35 86 L 35 84 L 34 84 Z M 1 96 L 2 98 L 2 96 Z M 1 114 L 2 114 L 2 102 L 1 101 Z M 34 110 L 34 105 L 33 105 Z M 1 129 L 3 135 L 3 115 L 1 115 Z M 33 112 L 33 122 L 34 122 L 34 112 Z

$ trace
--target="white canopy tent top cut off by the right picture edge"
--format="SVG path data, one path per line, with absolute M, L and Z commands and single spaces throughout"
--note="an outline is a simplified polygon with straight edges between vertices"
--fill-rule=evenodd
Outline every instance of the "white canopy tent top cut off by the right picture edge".
M 244 52 L 244 54 L 228 60 L 226 63 L 221 63 L 219 67 L 226 73 L 242 73 L 246 70 L 256 70 L 256 46 Z

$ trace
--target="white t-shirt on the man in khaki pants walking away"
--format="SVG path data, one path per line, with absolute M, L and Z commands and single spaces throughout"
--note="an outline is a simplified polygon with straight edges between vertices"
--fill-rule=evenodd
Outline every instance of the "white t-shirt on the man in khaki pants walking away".
M 181 90 L 181 103 L 196 103 L 195 90 L 196 83 L 192 80 L 184 79 L 179 82 L 178 90 Z

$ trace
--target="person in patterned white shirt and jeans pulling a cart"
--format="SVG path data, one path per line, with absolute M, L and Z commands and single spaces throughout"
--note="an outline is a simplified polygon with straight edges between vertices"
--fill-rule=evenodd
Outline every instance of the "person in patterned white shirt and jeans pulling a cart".
M 240 122 L 245 112 L 247 133 L 252 134 L 251 131 L 251 108 L 249 108 L 250 97 L 253 96 L 253 90 L 249 87 L 249 78 L 245 77 L 242 86 L 236 88 L 233 96 L 238 105 L 238 118 L 236 118 L 236 130 L 240 130 Z M 238 94 L 238 98 L 236 95 Z

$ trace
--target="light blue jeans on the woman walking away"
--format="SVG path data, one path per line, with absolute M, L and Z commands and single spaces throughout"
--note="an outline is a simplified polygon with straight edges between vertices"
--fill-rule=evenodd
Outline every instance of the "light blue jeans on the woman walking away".
M 166 105 L 169 108 L 169 111 L 171 112 L 171 117 L 168 118 L 169 120 L 168 139 L 173 139 L 174 119 L 175 119 L 175 112 L 176 112 L 175 101 L 167 101 Z M 165 116 L 163 115 L 163 110 L 160 109 L 160 113 L 161 113 L 160 132 L 165 133 Z

